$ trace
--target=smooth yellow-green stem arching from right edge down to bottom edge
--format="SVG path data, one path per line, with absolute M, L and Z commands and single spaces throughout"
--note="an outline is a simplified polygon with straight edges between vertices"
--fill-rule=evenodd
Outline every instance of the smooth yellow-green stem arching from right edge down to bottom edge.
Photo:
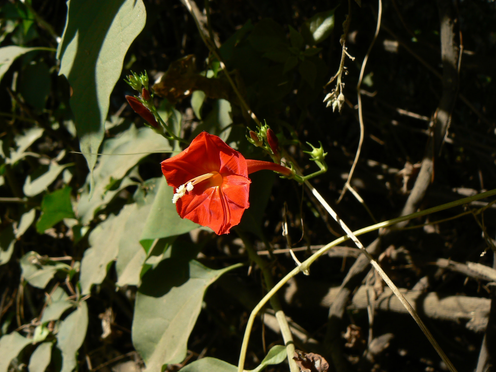
M 317 194 L 318 194 L 318 192 L 317 192 Z M 318 194 L 318 195 L 320 196 L 320 194 Z M 423 211 L 419 211 L 419 212 L 415 212 L 415 213 L 408 214 L 405 216 L 393 218 L 393 219 L 388 220 L 388 221 L 379 222 L 377 224 L 374 224 L 374 225 L 362 228 L 360 230 L 357 230 L 357 231 L 353 232 L 352 235 L 354 235 L 356 238 L 357 236 L 360 236 L 360 235 L 363 235 L 366 233 L 370 233 L 372 231 L 382 229 L 382 228 L 385 228 L 385 227 L 388 227 L 391 225 L 395 225 L 395 224 L 403 222 L 403 221 L 422 217 L 422 216 L 425 216 L 425 215 L 428 215 L 431 213 L 435 213 L 435 212 L 439 212 L 439 211 L 442 211 L 445 209 L 453 208 L 453 207 L 456 207 L 459 205 L 467 204 L 467 203 L 470 203 L 472 201 L 484 199 L 486 197 L 493 196 L 493 195 L 496 195 L 496 189 L 486 191 L 486 192 L 483 192 L 483 193 L 480 193 L 477 195 L 469 196 L 469 197 L 466 197 L 463 199 L 455 200 L 455 201 L 452 201 L 452 202 L 449 202 L 446 204 L 437 205 L 435 207 L 425 209 Z M 320 196 L 320 198 L 322 198 L 322 196 Z M 240 359 L 239 359 L 239 363 L 238 363 L 238 372 L 243 372 L 243 369 L 244 369 L 246 353 L 248 350 L 249 336 L 251 333 L 251 328 L 253 327 L 253 322 L 255 320 L 256 314 L 263 308 L 263 306 L 267 303 L 267 301 L 269 301 L 270 298 L 272 296 L 274 296 L 274 294 L 277 293 L 277 291 L 279 291 L 282 288 L 282 286 L 284 286 L 288 282 L 288 280 L 290 280 L 292 277 L 296 276 L 300 271 L 307 270 L 310 267 L 310 265 L 313 262 L 315 262 L 315 260 L 317 260 L 324 253 L 326 253 L 329 249 L 331 249 L 332 247 L 335 247 L 339 244 L 342 244 L 349 239 L 351 239 L 351 237 L 349 235 L 342 236 L 341 238 L 338 238 L 338 239 L 332 241 L 331 243 L 325 245 L 324 247 L 320 248 L 318 251 L 313 253 L 309 258 L 307 258 L 305 261 L 302 262 L 301 266 L 295 267 L 284 278 L 282 278 L 276 285 L 274 285 L 274 287 L 254 307 L 254 309 L 251 311 L 250 316 L 248 318 L 247 327 L 245 329 L 245 335 L 243 336 L 243 343 L 241 346 Z M 453 370 L 453 371 L 456 371 L 456 370 Z

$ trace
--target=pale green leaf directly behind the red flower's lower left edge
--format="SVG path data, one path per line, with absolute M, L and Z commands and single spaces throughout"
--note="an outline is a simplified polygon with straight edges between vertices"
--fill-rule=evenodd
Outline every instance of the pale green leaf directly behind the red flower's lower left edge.
M 176 205 L 172 203 L 174 187 L 167 185 L 165 177 L 160 179 L 157 186 L 155 199 L 139 239 L 143 247 L 149 246 L 150 241 L 155 239 L 181 235 L 199 227 L 194 222 L 182 219 L 178 215 Z

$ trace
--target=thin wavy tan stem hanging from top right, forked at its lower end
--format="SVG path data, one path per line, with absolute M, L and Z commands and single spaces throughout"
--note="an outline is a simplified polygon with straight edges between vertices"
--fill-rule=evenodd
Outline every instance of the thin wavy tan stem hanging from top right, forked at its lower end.
M 360 158 L 360 152 L 362 151 L 362 144 L 364 143 L 364 136 L 365 136 L 365 125 L 364 125 L 364 116 L 363 116 L 363 110 L 362 110 L 362 94 L 360 93 L 360 88 L 362 86 L 362 79 L 364 78 L 364 72 L 365 72 L 365 66 L 367 65 L 367 60 L 369 59 L 369 56 L 372 51 L 372 47 L 375 43 L 375 40 L 377 39 L 377 35 L 379 35 L 379 30 L 380 30 L 380 21 L 382 18 L 382 0 L 379 0 L 379 8 L 377 11 L 377 26 L 375 27 L 375 34 L 373 36 L 371 45 L 369 46 L 369 50 L 367 51 L 367 54 L 365 55 L 364 62 L 362 62 L 362 68 L 360 69 L 360 77 L 358 78 L 358 84 L 357 84 L 357 96 L 358 96 L 358 121 L 360 123 L 360 139 L 358 141 L 358 149 L 357 153 L 355 155 L 355 160 L 353 161 L 353 164 L 351 166 L 350 173 L 348 175 L 348 179 L 346 180 L 346 183 L 343 186 L 343 191 L 341 191 L 341 195 L 339 195 L 339 199 L 337 203 L 341 201 L 343 198 L 344 194 L 346 193 L 346 190 L 352 191 L 353 195 L 364 205 L 365 209 L 367 209 L 367 212 L 372 216 L 372 212 L 369 210 L 367 205 L 365 204 L 364 200 L 358 195 L 357 192 L 353 192 L 353 188 L 350 185 L 351 178 L 353 177 L 353 172 L 355 172 L 355 168 L 358 163 L 358 159 Z M 357 197 L 358 196 L 358 197 Z

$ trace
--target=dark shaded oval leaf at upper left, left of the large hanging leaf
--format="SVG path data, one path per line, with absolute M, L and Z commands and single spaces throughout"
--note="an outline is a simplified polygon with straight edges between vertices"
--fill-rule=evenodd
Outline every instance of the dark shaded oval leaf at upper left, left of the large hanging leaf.
M 50 70 L 45 62 L 28 64 L 21 73 L 18 91 L 28 104 L 41 111 L 45 108 L 51 83 Z

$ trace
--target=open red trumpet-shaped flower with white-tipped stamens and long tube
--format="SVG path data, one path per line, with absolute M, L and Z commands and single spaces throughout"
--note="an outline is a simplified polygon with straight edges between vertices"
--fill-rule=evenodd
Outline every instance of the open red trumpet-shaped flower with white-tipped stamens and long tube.
M 270 169 L 291 171 L 275 163 L 247 160 L 216 135 L 201 132 L 188 148 L 162 163 L 167 184 L 175 190 L 172 202 L 181 218 L 227 234 L 249 207 L 248 174 Z

